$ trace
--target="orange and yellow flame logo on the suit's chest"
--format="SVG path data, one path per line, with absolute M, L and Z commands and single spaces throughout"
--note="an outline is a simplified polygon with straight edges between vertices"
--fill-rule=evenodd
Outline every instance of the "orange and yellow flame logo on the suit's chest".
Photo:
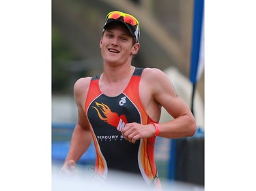
M 112 112 L 109 106 L 105 105 L 104 103 L 98 103 L 98 102 L 95 102 L 95 103 L 103 114 L 102 116 L 99 109 L 97 107 L 92 106 L 94 107 L 94 109 L 96 109 L 100 120 L 103 120 L 104 122 L 110 124 L 111 126 L 115 126 L 115 128 L 117 128 L 119 131 L 121 131 L 122 128 L 124 128 L 125 124 L 127 123 L 126 116 L 124 115 L 118 116 L 117 113 Z

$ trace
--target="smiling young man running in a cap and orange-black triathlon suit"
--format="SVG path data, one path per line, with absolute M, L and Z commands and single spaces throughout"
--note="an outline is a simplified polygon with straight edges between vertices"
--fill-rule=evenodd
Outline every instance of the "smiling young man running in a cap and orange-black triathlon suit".
M 96 77 L 81 78 L 74 85 L 78 122 L 61 172 L 72 173 L 70 169 L 94 141 L 95 173 L 101 179 L 124 171 L 161 190 L 154 161 L 156 136 L 193 136 L 195 118 L 165 73 L 131 65 L 140 48 L 136 18 L 111 12 L 103 28 L 100 48 L 104 71 Z M 174 120 L 158 123 L 161 107 Z

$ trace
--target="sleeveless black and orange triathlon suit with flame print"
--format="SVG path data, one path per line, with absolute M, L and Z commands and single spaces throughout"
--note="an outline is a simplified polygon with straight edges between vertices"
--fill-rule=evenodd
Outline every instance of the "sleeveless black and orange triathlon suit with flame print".
M 156 137 L 130 143 L 121 133 L 126 123 L 154 122 L 147 115 L 139 97 L 142 72 L 143 69 L 136 68 L 124 92 L 116 97 L 108 97 L 100 91 L 100 75 L 92 77 L 85 102 L 85 114 L 91 124 L 96 148 L 97 175 L 107 179 L 111 170 L 137 173 L 147 185 L 160 188 L 154 162 Z

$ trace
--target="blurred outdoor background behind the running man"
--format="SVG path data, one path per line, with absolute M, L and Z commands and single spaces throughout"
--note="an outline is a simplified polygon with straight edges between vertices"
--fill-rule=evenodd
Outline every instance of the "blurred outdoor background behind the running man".
M 104 18 L 107 13 L 119 10 L 134 15 L 141 26 L 141 48 L 132 65 L 161 69 L 189 107 L 193 102 L 193 114 L 197 120 L 197 133 L 193 137 L 157 137 L 155 159 L 159 176 L 168 182 L 203 189 L 204 70 L 196 86 L 190 82 L 194 6 L 193 0 L 52 1 L 53 170 L 59 169 L 66 158 L 76 123 L 74 83 L 80 77 L 102 73 L 99 42 Z M 193 90 L 195 97 L 192 99 Z M 161 122 L 167 120 L 170 117 L 162 109 Z M 91 145 L 78 165 L 87 171 L 94 167 L 94 159 Z

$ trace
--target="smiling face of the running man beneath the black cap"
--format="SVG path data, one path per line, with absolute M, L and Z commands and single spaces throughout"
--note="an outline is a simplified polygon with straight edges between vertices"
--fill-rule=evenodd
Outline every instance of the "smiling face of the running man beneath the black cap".
M 139 44 L 133 44 L 133 37 L 122 24 L 109 26 L 100 40 L 100 48 L 104 63 L 122 65 L 131 62 L 133 54 L 137 54 Z

